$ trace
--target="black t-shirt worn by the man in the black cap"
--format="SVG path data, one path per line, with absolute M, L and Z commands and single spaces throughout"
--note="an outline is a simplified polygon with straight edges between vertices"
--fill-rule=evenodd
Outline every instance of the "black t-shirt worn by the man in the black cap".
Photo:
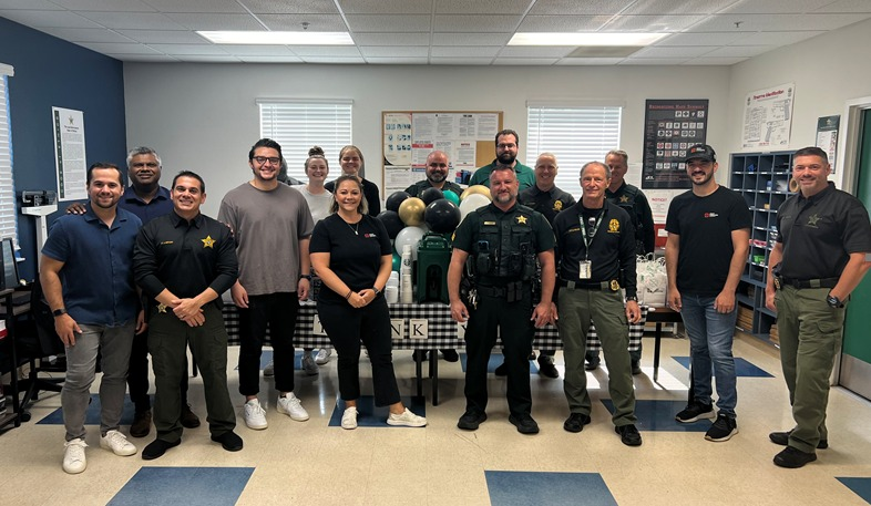
M 744 197 L 725 186 L 705 197 L 693 190 L 675 197 L 665 229 L 680 236 L 677 289 L 701 297 L 719 295 L 735 252 L 731 233 L 751 226 L 752 215 Z

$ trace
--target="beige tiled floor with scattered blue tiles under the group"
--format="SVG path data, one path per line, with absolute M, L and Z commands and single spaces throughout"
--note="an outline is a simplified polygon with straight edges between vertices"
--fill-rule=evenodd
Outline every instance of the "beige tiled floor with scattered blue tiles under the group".
M 427 400 L 421 405 L 421 400 L 411 397 L 413 362 L 407 351 L 394 353 L 400 390 L 418 413 L 426 410 L 428 427 L 390 427 L 380 420 L 385 413 L 369 411 L 367 400 L 360 403 L 368 416 L 360 419 L 360 428 L 345 431 L 331 423 L 338 391 L 334 355 L 317 376 L 297 372 L 296 394 L 311 414 L 308 422 L 278 414 L 273 381 L 265 379 L 262 401 L 268 400 L 269 428 L 250 431 L 242 421 L 243 397 L 236 393 L 238 349 L 230 348 L 229 388 L 239 412 L 237 432 L 245 441 L 242 452 L 225 452 L 209 441 L 204 423 L 186 431 L 182 445 L 156 461 L 119 457 L 100 448 L 94 424 L 89 425 L 88 469 L 66 475 L 61 469 L 60 397 L 43 394 L 31 407 L 31 422 L 0 436 L 0 476 L 6 485 L 0 502 L 17 506 L 869 504 L 871 403 L 834 389 L 828 419 L 831 447 L 819 451 L 819 461 L 805 468 L 781 469 L 771 463 L 780 447 L 767 437 L 772 430 L 791 426 L 777 350 L 738 337 L 735 354 L 742 359 L 739 374 L 746 372 L 738 379 L 740 433 L 729 442 L 710 443 L 704 440 L 709 422 L 680 425 L 673 420 L 687 395 L 683 363 L 688 343 L 664 339 L 658 383 L 652 380 L 653 340 L 645 339 L 644 344 L 645 373 L 635 376 L 641 447 L 622 445 L 614 433 L 603 389 L 605 369 L 588 374 L 593 423 L 580 434 L 562 428 L 567 414 L 562 380 L 534 373 L 539 435 L 521 435 L 509 424 L 504 379 L 492 375 L 488 421 L 477 432 L 463 432 L 455 426 L 464 407 L 462 362 L 440 363 L 441 404 L 432 406 Z M 556 362 L 562 372 L 561 353 Z M 369 378 L 365 358 L 362 373 Z M 371 382 L 363 388 L 370 391 Z M 191 380 L 189 399 L 204 419 L 198 378 Z M 152 437 L 131 441 L 142 450 Z

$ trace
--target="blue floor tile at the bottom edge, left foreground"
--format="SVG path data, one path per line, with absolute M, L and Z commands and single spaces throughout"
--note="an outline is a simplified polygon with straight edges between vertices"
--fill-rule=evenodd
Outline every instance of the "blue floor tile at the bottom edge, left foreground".
M 232 506 L 254 467 L 143 467 L 110 506 Z

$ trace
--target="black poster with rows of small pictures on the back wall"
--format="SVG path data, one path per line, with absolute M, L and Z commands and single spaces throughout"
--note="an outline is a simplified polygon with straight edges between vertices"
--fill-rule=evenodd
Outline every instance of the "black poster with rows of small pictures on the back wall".
M 704 144 L 707 100 L 648 100 L 644 114 L 642 188 L 689 188 L 684 159 Z

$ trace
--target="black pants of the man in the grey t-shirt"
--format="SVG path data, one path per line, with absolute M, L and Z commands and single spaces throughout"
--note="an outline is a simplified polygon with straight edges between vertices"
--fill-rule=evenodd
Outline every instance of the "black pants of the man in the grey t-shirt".
M 260 391 L 260 354 L 269 329 L 275 362 L 275 388 L 294 391 L 294 330 L 299 300 L 296 292 L 248 296 L 248 308 L 239 308 L 239 393 Z

